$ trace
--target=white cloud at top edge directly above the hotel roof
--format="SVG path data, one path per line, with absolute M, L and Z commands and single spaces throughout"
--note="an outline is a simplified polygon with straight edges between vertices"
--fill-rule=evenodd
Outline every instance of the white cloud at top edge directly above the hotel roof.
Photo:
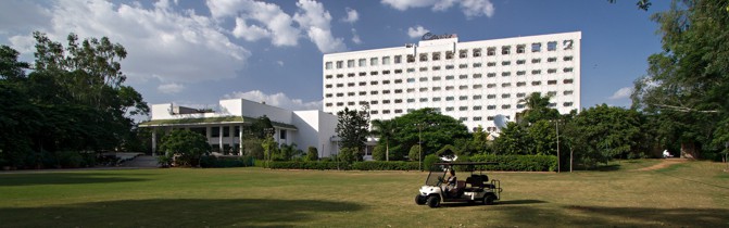
M 457 3 L 467 18 L 491 17 L 495 11 L 491 0 L 381 0 L 380 2 L 400 11 L 426 7 L 430 7 L 432 11 L 447 11 Z

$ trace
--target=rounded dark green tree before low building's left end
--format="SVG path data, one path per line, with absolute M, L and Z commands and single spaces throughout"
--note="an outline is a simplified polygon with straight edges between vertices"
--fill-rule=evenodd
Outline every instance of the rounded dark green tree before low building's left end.
M 198 166 L 200 157 L 208 154 L 208 138 L 191 130 L 173 130 L 162 139 L 162 151 L 176 156 L 176 163 L 183 166 Z

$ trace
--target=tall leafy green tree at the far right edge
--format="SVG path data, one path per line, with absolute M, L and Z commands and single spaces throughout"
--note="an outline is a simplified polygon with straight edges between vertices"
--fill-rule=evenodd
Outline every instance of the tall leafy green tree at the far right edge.
M 665 141 L 680 143 L 683 155 L 699 157 L 721 150 L 717 131 L 729 118 L 729 2 L 677 1 L 656 13 L 663 52 L 649 58 L 648 75 L 634 83 L 633 107 L 658 124 Z M 703 152 L 702 152 L 703 153 Z

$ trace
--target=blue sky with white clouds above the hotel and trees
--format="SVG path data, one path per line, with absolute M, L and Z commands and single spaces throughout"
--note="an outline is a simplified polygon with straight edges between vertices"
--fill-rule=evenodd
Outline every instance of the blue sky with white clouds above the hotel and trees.
M 661 51 L 636 0 L 0 1 L 0 43 L 33 61 L 30 33 L 110 37 L 129 52 L 127 84 L 149 103 L 214 107 L 246 98 L 320 109 L 324 53 L 403 46 L 424 31 L 461 41 L 582 31 L 582 107 L 628 106 Z

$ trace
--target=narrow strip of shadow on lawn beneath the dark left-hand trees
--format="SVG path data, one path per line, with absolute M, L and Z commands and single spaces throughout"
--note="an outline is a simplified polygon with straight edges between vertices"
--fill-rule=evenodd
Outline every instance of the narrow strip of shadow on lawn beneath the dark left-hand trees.
M 130 178 L 130 174 L 111 173 L 43 173 L 0 175 L 0 187 L 38 185 L 79 185 L 146 181 L 144 178 Z

